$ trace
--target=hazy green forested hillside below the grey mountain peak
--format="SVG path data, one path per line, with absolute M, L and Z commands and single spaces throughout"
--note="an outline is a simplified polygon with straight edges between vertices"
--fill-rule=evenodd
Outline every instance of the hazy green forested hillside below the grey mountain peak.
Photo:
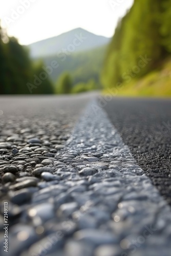
M 98 47 L 93 50 L 70 53 L 66 57 L 60 58 L 57 55 L 44 57 L 43 61 L 46 66 L 51 66 L 52 61 L 57 61 L 58 68 L 51 74 L 54 83 L 58 77 L 66 72 L 72 75 L 73 84 L 79 82 L 88 82 L 91 78 L 100 84 L 100 72 L 103 66 L 103 60 L 107 46 Z

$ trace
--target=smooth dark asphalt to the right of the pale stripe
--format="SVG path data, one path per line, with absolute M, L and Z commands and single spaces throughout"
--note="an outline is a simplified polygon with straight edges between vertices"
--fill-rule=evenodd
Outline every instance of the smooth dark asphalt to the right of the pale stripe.
M 171 205 L 171 100 L 116 97 L 104 109 L 139 166 Z

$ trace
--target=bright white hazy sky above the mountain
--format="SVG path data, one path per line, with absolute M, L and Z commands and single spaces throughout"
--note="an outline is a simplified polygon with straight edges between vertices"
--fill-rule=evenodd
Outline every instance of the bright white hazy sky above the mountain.
M 2 26 L 28 45 L 81 27 L 111 37 L 134 0 L 0 0 Z M 22 5 L 23 3 L 23 5 Z

